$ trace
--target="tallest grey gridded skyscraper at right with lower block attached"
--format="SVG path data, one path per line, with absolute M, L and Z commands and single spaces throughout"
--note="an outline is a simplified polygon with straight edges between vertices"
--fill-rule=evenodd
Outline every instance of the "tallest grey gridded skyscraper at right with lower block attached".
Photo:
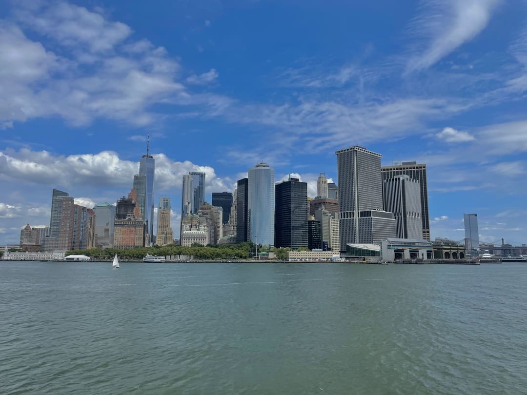
M 382 155 L 359 146 L 336 154 L 340 250 L 347 243 L 377 243 L 395 237 L 394 215 L 383 211 Z

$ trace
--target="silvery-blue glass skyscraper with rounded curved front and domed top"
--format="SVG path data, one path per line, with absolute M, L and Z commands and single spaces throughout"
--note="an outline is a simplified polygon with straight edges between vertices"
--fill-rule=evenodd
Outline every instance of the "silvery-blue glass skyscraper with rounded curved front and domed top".
M 275 170 L 259 163 L 249 169 L 248 178 L 250 240 L 275 245 Z

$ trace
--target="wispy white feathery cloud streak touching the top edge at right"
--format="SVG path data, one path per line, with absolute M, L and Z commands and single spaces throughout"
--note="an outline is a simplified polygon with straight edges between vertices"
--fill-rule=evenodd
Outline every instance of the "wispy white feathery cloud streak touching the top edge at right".
M 414 19 L 411 34 L 425 37 L 407 72 L 424 70 L 479 35 L 500 0 L 427 0 Z

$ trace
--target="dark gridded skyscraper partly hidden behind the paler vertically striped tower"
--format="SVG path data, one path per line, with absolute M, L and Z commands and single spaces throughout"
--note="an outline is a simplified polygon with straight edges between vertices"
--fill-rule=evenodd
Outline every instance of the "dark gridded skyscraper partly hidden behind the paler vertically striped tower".
M 393 166 L 381 167 L 383 180 L 391 179 L 396 175 L 407 175 L 412 180 L 419 181 L 421 191 L 421 222 L 423 227 L 423 240 L 430 240 L 430 219 L 428 218 L 428 186 L 426 182 L 426 165 L 417 162 L 402 162 Z

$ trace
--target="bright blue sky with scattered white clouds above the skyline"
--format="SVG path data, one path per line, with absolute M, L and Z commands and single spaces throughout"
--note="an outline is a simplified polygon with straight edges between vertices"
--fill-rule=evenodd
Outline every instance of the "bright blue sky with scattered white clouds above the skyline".
M 477 212 L 527 243 L 527 4 L 364 3 L 0 0 L 0 244 L 53 187 L 128 193 L 147 133 L 176 222 L 190 170 L 209 201 L 260 160 L 314 196 L 359 144 L 428 165 L 433 238 Z

